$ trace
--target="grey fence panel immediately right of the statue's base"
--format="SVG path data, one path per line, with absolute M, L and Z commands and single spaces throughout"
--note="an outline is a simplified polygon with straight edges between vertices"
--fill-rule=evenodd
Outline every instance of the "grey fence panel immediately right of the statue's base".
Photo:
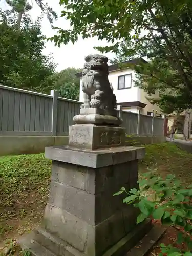
M 137 121 L 138 121 L 138 114 L 132 113 L 128 111 L 122 111 L 122 127 L 125 127 L 126 134 L 137 134 Z

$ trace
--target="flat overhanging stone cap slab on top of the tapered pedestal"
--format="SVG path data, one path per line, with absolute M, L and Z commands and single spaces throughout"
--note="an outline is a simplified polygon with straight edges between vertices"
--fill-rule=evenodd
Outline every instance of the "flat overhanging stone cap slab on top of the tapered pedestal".
M 81 165 L 91 168 L 101 168 L 105 166 L 111 166 L 117 164 L 118 162 L 128 162 L 129 158 L 121 158 L 121 154 L 125 154 L 128 151 L 137 152 L 145 151 L 143 147 L 131 147 L 131 146 L 122 146 L 122 147 L 111 147 L 111 148 L 102 148 L 100 150 L 82 150 L 71 148 L 69 146 L 56 146 L 56 147 L 46 147 L 46 157 L 52 160 L 72 163 L 76 165 Z M 129 154 L 129 153 L 127 153 Z M 135 153 L 133 153 L 134 155 Z M 136 159 L 137 159 L 136 154 Z M 120 160 L 121 159 L 121 160 Z M 128 160 L 128 161 L 127 161 Z M 133 159 L 134 160 L 134 159 Z

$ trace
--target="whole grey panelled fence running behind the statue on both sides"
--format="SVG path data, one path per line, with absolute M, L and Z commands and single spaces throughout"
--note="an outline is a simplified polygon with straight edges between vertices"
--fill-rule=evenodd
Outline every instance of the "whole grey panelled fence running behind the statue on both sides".
M 68 135 L 82 103 L 58 96 L 0 85 L 0 135 Z M 163 135 L 164 119 L 122 111 L 130 135 Z

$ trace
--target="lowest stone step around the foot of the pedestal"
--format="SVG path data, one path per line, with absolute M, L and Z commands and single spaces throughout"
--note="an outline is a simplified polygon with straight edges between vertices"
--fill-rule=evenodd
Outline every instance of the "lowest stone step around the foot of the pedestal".
M 151 221 L 149 220 L 141 223 L 103 253 L 95 253 L 95 248 L 93 248 L 90 254 L 84 254 L 84 252 L 80 252 L 73 246 L 65 243 L 53 234 L 50 234 L 45 229 L 37 229 L 27 236 L 21 237 L 18 242 L 23 249 L 29 250 L 34 256 L 123 256 L 134 247 L 152 227 Z M 100 246 L 102 246 L 102 244 Z

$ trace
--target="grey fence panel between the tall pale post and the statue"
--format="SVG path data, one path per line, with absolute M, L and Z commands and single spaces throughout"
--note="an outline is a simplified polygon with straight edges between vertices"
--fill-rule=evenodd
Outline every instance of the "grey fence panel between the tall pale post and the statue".
M 82 103 L 58 97 L 57 103 L 57 135 L 68 135 L 69 126 L 73 125 L 73 117 L 80 112 Z

